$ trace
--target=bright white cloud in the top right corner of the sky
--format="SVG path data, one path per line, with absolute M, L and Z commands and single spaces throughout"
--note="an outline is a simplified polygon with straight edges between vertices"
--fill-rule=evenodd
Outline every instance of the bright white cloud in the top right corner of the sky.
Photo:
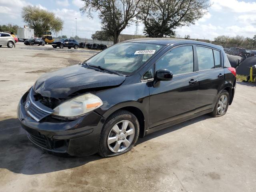
M 256 2 L 244 2 L 238 0 L 211 0 L 212 9 L 215 11 L 227 11 L 237 13 L 256 12 Z M 231 15 L 230 15 L 231 16 Z

